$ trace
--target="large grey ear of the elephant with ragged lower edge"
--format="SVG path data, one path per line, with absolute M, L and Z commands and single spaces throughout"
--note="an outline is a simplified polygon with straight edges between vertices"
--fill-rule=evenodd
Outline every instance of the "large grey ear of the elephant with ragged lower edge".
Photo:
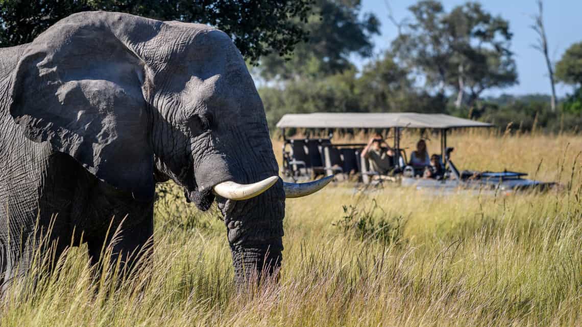
M 27 138 L 148 201 L 155 182 L 145 65 L 115 33 L 123 24 L 135 31 L 139 17 L 113 17 L 113 26 L 104 17 L 71 16 L 28 46 L 13 75 L 10 114 Z

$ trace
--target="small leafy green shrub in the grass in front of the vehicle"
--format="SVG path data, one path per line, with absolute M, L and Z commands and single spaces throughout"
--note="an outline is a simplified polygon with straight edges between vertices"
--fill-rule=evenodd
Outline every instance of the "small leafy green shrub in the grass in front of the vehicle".
M 359 209 L 356 205 L 342 206 L 342 219 L 335 225 L 344 233 L 354 233 L 361 240 L 375 239 L 386 244 L 403 241 L 406 220 L 402 216 L 388 217 L 375 199 L 369 209 Z

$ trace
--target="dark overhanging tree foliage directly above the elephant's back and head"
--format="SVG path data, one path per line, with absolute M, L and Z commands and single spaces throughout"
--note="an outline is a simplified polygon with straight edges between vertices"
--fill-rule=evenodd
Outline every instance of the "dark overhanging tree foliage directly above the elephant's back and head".
M 313 0 L 0 0 L 0 46 L 32 41 L 72 13 L 107 10 L 158 20 L 210 24 L 233 38 L 251 63 L 271 52 L 286 55 L 307 37 Z

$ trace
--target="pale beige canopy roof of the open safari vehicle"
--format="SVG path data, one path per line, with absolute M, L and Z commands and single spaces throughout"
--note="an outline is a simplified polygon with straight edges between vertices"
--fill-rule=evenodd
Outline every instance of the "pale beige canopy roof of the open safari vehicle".
M 493 127 L 489 123 L 474 121 L 448 114 L 427 113 L 309 113 L 285 114 L 278 128 L 463 128 Z

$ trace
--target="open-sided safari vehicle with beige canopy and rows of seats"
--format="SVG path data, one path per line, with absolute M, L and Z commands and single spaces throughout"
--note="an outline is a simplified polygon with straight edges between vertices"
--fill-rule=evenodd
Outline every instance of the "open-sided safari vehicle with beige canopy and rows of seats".
M 432 189 L 491 189 L 512 192 L 516 189 L 546 189 L 554 183 L 546 183 L 523 178 L 527 174 L 514 171 L 459 171 L 450 159 L 453 148 L 448 148 L 447 134 L 457 128 L 488 128 L 492 124 L 453 117 L 446 114 L 420 113 L 311 113 L 286 114 L 279 120 L 283 143 L 283 178 L 297 181 L 314 179 L 320 175 L 336 175 L 336 179 L 346 179 L 356 175 L 364 184 L 377 183 L 385 178 L 375 177 L 370 171 L 368 160 L 360 157 L 365 143 L 333 143 L 333 131 L 338 129 L 392 130 L 395 158 L 395 176 L 389 178 L 403 186 Z M 327 138 L 286 138 L 286 128 L 331 131 Z M 423 170 L 408 166 L 406 149 L 400 147 L 401 132 L 404 129 L 438 132 L 440 136 L 439 161 L 445 174 L 441 179 L 423 178 Z

